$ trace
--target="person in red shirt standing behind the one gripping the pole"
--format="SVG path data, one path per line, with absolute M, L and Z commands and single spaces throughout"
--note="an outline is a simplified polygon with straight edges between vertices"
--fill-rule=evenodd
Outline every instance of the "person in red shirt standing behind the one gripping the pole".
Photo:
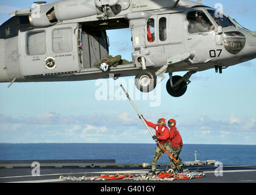
M 182 137 L 180 136 L 179 130 L 176 128 L 176 120 L 169 119 L 168 127 L 170 127 L 169 140 L 171 141 L 172 147 L 172 156 L 179 161 L 179 165 L 177 165 L 176 161 L 171 159 L 171 169 L 176 169 L 177 171 L 181 171 L 182 160 L 179 157 L 180 151 L 182 150 Z

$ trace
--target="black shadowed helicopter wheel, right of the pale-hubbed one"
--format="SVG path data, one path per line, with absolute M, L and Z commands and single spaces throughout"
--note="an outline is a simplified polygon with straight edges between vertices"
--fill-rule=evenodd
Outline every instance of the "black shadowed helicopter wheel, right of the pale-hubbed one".
M 173 76 L 172 77 L 172 84 L 175 85 L 182 77 L 181 76 Z M 166 90 L 167 92 L 173 97 L 180 97 L 187 91 L 187 82 L 183 81 L 175 88 L 171 87 L 170 79 L 168 79 L 166 83 Z

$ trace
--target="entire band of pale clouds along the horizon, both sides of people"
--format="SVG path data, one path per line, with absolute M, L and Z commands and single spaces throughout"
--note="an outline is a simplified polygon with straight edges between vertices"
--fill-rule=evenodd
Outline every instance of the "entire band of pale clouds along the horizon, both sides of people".
M 146 118 L 150 121 L 157 116 L 152 113 Z M 256 118 L 236 115 L 230 115 L 226 119 L 215 119 L 207 115 L 190 119 L 180 118 L 177 128 L 184 143 L 187 143 L 187 140 L 190 140 L 190 143 L 191 140 L 196 140 L 194 143 L 221 143 L 221 141 L 224 143 L 223 141 L 230 141 L 231 137 L 236 138 L 238 135 L 239 140 L 247 143 L 248 139 L 245 137 L 249 137 L 248 133 L 254 133 L 256 130 Z M 138 116 L 128 112 L 79 116 L 46 112 L 23 118 L 1 115 L 0 133 L 0 142 L 11 143 L 35 143 L 44 140 L 60 143 L 149 143 L 152 141 L 148 130 Z M 250 143 L 254 143 L 254 140 Z

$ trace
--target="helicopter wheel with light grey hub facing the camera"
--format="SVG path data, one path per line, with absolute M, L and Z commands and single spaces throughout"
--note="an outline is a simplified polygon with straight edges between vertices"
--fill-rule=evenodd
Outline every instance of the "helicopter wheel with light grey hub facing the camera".
M 135 77 L 135 86 L 141 92 L 150 92 L 157 86 L 157 76 L 150 71 L 141 71 Z

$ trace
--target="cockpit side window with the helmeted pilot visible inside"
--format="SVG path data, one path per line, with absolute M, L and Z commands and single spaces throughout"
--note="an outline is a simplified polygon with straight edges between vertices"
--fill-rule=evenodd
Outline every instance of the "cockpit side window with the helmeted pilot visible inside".
M 188 32 L 190 34 L 210 32 L 215 29 L 212 22 L 202 11 L 188 12 Z

